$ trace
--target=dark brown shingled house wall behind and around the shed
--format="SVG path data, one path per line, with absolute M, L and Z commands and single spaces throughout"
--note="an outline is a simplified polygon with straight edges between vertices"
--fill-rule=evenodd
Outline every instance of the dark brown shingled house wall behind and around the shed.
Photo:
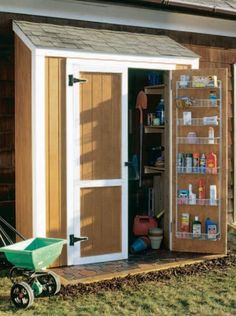
M 4 71 L 0 73 L 0 83 L 4 87 L 4 91 L 8 93 L 8 98 L 0 98 L 0 133 L 3 131 L 2 123 L 5 118 L 1 113 L 10 113 L 11 114 L 11 125 L 14 129 L 14 90 L 12 90 L 13 81 L 13 72 L 14 72 L 14 41 L 13 41 L 13 31 L 12 31 L 12 20 L 26 20 L 32 22 L 43 22 L 43 23 L 55 23 L 60 25 L 73 25 L 80 27 L 91 27 L 91 28 L 105 28 L 111 30 L 119 31 L 128 31 L 128 32 L 141 32 L 146 34 L 157 34 L 157 35 L 166 35 L 172 38 L 173 40 L 179 42 L 180 44 L 191 49 L 195 53 L 201 56 L 200 58 L 200 67 L 202 68 L 228 68 L 229 74 L 229 90 L 228 90 L 228 99 L 229 99 L 229 121 L 228 121 L 228 159 L 229 159 L 229 201 L 228 201 L 228 221 L 232 222 L 233 220 L 233 64 L 236 63 L 236 41 L 232 37 L 223 37 L 223 36 L 213 36 L 205 34 L 196 34 L 190 32 L 179 32 L 179 31 L 168 31 L 161 29 L 151 29 L 144 27 L 133 27 L 133 26 L 124 26 L 124 25 L 112 25 L 106 23 L 96 23 L 96 22 L 86 22 L 86 21 L 75 21 L 75 20 L 66 20 L 66 19 L 57 19 L 57 18 L 47 18 L 47 17 L 38 17 L 38 16 L 28 16 L 22 14 L 11 14 L 11 13 L 0 13 L 0 65 L 3 65 Z M 8 60 L 4 59 L 5 55 L 12 56 Z M 10 80 L 9 80 L 10 79 Z M 7 92 L 8 91 L 8 92 Z M 2 135 L 2 134 L 1 134 Z M 8 144 L 13 144 L 11 147 L 10 154 L 6 161 L 8 164 L 11 164 L 10 174 L 7 179 L 14 179 L 14 133 L 5 135 L 4 141 Z M 3 164 L 3 153 L 0 152 L 0 174 L 4 170 Z M 10 180 L 9 180 L 10 181 Z M 0 196 L 4 189 L 0 187 Z M 9 189 L 10 190 L 10 189 Z M 14 201 L 14 188 L 12 194 L 8 194 L 6 199 Z M 4 209 L 0 203 L 0 212 L 1 208 Z M 14 214 L 14 202 L 12 202 L 12 213 Z

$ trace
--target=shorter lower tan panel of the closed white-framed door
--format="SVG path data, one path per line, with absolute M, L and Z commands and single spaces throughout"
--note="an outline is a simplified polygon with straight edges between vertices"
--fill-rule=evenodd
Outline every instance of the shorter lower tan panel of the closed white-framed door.
M 121 252 L 121 188 L 81 189 L 81 257 Z

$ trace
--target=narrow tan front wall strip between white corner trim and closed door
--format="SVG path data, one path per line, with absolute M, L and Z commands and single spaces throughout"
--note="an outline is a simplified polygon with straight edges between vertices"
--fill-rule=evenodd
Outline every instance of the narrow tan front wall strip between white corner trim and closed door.
M 46 235 L 66 238 L 65 59 L 46 58 Z M 55 265 L 66 264 L 64 248 Z

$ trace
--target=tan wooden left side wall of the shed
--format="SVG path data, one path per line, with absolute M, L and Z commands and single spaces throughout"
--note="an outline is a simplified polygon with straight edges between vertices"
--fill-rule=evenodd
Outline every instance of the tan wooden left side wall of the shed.
M 32 237 L 31 52 L 15 37 L 16 229 Z

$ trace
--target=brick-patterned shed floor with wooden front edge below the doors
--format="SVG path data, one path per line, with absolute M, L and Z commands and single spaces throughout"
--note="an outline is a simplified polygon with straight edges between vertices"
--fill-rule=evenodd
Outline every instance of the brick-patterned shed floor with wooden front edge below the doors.
M 63 285 L 89 284 L 113 278 L 124 278 L 127 275 L 183 267 L 225 256 L 155 250 L 141 255 L 132 255 L 126 260 L 53 268 L 53 271 L 61 277 Z

